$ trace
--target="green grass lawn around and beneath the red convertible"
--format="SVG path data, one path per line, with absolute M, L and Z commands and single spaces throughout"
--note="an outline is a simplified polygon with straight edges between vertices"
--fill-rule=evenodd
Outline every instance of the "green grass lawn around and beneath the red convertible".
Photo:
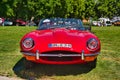
M 43 80 L 120 80 L 120 26 L 92 27 L 92 32 L 101 40 L 101 54 L 97 67 L 84 65 L 35 64 L 24 68 L 19 42 L 22 36 L 36 27 L 0 26 L 0 75 L 36 78 Z

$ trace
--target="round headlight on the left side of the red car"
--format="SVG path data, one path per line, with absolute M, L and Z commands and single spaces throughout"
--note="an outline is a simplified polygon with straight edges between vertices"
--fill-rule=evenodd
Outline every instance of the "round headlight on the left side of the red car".
M 26 49 L 31 49 L 34 46 L 34 41 L 32 38 L 26 38 L 23 40 L 22 45 Z

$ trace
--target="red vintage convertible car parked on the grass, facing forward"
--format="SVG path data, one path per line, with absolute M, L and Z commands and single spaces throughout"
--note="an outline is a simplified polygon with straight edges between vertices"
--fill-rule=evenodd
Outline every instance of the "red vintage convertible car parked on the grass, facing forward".
M 28 61 L 44 64 L 91 63 L 95 67 L 100 40 L 83 26 L 80 19 L 48 18 L 40 20 L 38 29 L 21 39 L 20 48 Z

